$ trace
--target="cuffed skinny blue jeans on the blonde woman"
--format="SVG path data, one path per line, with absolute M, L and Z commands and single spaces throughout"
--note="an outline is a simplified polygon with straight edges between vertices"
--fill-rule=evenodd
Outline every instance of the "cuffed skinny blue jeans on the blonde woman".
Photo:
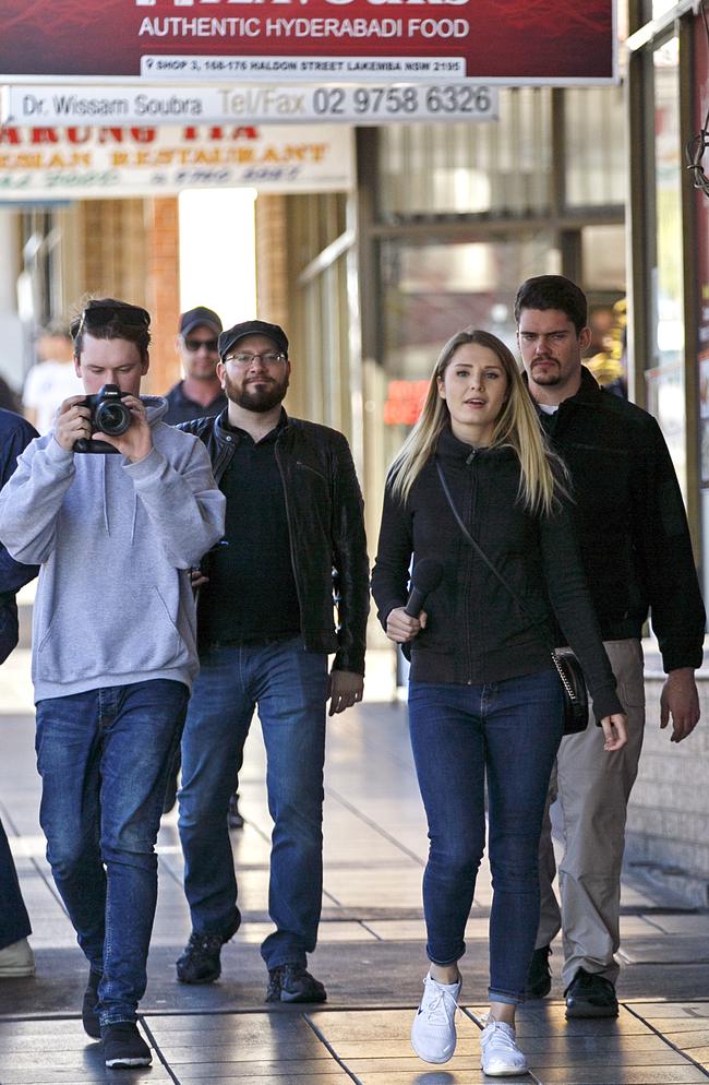
M 485 685 L 411 682 L 413 760 L 429 823 L 423 875 L 429 958 L 465 953 L 465 928 L 490 818 L 490 998 L 525 1001 L 539 922 L 538 850 L 562 738 L 555 671 Z

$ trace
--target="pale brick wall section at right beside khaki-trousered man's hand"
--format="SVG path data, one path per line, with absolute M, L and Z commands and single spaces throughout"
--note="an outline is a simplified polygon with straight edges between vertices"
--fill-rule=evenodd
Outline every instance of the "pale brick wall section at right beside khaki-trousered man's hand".
M 647 722 L 640 772 L 628 810 L 626 862 L 674 890 L 689 905 L 709 905 L 709 681 L 699 679 L 701 720 L 683 742 L 660 730 L 663 679 L 646 681 Z

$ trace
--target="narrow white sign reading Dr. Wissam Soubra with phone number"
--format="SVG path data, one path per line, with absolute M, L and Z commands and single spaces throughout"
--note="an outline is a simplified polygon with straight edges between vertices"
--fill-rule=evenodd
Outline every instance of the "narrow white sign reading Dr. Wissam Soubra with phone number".
M 473 82 L 441 85 L 5 86 L 3 124 L 383 124 L 496 120 L 498 91 Z

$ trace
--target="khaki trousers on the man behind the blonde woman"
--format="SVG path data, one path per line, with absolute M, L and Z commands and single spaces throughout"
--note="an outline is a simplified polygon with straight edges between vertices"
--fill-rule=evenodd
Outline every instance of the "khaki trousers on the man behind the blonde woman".
M 539 847 L 541 918 L 537 947 L 549 945 L 562 931 L 564 989 L 579 968 L 613 983 L 620 971 L 614 953 L 621 944 L 621 867 L 627 803 L 642 748 L 645 683 L 639 641 L 604 644 L 628 717 L 628 741 L 622 750 L 606 753 L 603 731 L 596 726 L 592 712 L 585 731 L 562 739 Z M 561 822 L 564 847 L 558 865 L 561 909 L 552 889 L 556 863 L 550 806 L 554 802 L 554 821 Z

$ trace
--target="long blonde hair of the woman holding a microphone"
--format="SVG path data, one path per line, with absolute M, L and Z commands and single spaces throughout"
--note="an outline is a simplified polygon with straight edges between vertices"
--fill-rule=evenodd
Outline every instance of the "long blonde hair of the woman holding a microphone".
M 496 335 L 474 327 L 457 332 L 438 355 L 421 416 L 389 468 L 392 492 L 406 501 L 416 479 L 434 455 L 441 431 L 449 420 L 448 405 L 438 392 L 438 380 L 443 379 L 458 347 L 468 343 L 492 350 L 507 377 L 507 400 L 495 419 L 490 446 L 507 445 L 515 451 L 520 466 L 519 497 L 531 513 L 546 514 L 553 509 L 557 491 L 566 489 L 562 481 L 567 477 L 565 468 L 546 445 L 512 351 Z

